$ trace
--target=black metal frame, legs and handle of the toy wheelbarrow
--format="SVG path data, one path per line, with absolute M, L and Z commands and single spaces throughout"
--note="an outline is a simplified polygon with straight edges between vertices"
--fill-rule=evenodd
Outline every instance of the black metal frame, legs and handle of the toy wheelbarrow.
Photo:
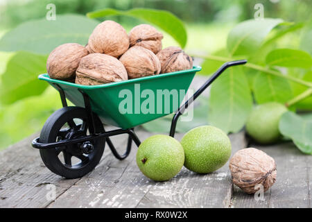
M 202 87 L 200 87 L 200 89 L 198 89 L 193 96 L 191 96 L 191 98 L 189 100 L 187 100 L 178 110 L 177 112 L 175 112 L 175 115 L 172 119 L 171 122 L 171 130 L 170 130 L 170 136 L 174 137 L 175 136 L 175 127 L 177 126 L 177 119 L 179 119 L 179 117 L 185 112 L 185 110 L 189 107 L 189 105 L 191 103 L 193 103 L 193 101 L 200 95 L 202 94 L 202 92 L 205 91 L 205 89 L 207 89 L 207 87 L 209 87 L 209 85 L 211 85 L 211 83 L 214 82 L 214 80 L 216 80 L 216 78 L 218 78 L 218 76 L 220 76 L 220 74 L 223 73 L 223 71 L 225 71 L 225 69 L 227 69 L 228 67 L 232 67 L 235 65 L 244 65 L 247 62 L 247 60 L 237 60 L 237 61 L 233 61 L 233 62 L 226 62 L 222 67 L 220 67 L 220 69 L 218 69 L 218 71 L 216 71 L 216 73 L 214 75 L 212 75 L 209 80 L 207 80 L 207 82 L 202 85 Z M 62 105 L 63 107 L 67 107 L 67 101 L 66 101 L 66 96 L 64 93 L 64 90 L 56 83 L 53 84 L 54 87 L 56 89 L 58 89 L 58 92 L 60 93 L 60 99 L 62 101 Z M 81 94 L 83 94 L 83 100 L 85 103 L 85 109 L 87 111 L 87 116 L 88 116 L 88 120 L 89 123 L 91 123 L 91 127 L 89 127 L 89 133 L 90 135 L 87 135 L 85 137 L 80 137 L 77 139 L 64 139 L 60 142 L 53 142 L 53 143 L 49 143 L 49 144 L 43 144 L 40 143 L 39 141 L 39 137 L 34 139 L 32 142 L 32 146 L 34 148 L 55 148 L 58 146 L 67 146 L 69 144 L 78 144 L 78 143 L 83 143 L 83 142 L 87 142 L 93 139 L 99 139 L 101 137 L 105 137 L 106 143 L 107 145 L 110 147 L 110 150 L 112 151 L 113 155 L 119 159 L 119 160 L 123 160 L 125 159 L 125 157 L 128 157 L 130 150 L 131 150 L 131 146 L 132 146 L 132 141 L 135 142 L 135 144 L 137 146 L 139 146 L 141 144 L 139 138 L 137 137 L 137 135 L 135 134 L 135 130 L 134 128 L 130 128 L 130 129 L 117 129 L 117 130 L 111 130 L 108 132 L 103 132 L 103 133 L 96 133 L 94 132 L 94 117 L 93 117 L 93 112 L 92 112 L 92 107 L 91 107 L 91 103 L 89 100 L 89 96 L 83 92 L 82 90 L 78 89 L 80 91 Z M 127 144 L 127 148 L 125 150 L 125 153 L 123 153 L 123 155 L 120 155 L 117 151 L 116 148 L 114 147 L 114 144 L 112 144 L 112 141 L 110 140 L 110 137 L 114 136 L 114 135 L 121 135 L 121 134 L 128 134 L 128 144 Z

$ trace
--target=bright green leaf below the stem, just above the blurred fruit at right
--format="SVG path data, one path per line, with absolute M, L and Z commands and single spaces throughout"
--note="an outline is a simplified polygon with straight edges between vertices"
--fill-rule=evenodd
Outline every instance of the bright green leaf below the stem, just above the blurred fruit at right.
M 292 99 L 291 84 L 285 78 L 259 72 L 254 78 L 254 97 L 257 103 L 276 101 L 286 103 Z

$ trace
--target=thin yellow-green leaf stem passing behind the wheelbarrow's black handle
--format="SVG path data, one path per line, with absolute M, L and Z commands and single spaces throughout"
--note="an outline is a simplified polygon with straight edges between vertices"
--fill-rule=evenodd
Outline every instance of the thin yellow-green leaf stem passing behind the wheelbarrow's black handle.
M 225 57 L 222 57 L 222 56 L 211 56 L 211 55 L 202 56 L 202 55 L 197 55 L 197 54 L 189 54 L 189 55 L 193 56 L 193 57 L 204 58 L 204 59 L 207 59 L 207 60 L 215 60 L 215 61 L 220 61 L 220 62 L 229 62 L 229 61 L 232 60 L 232 58 L 225 58 Z M 274 76 L 279 76 L 281 78 L 286 78 L 286 79 L 291 80 L 291 81 L 293 81 L 295 83 L 299 83 L 301 85 L 305 85 L 306 87 L 312 87 L 312 83 L 309 83 L 307 81 L 301 80 L 300 78 L 295 78 L 293 76 L 285 76 L 285 75 L 281 74 L 279 71 L 274 71 L 274 70 L 268 69 L 266 67 L 262 67 L 260 65 L 256 65 L 256 64 L 248 62 L 244 66 L 248 67 L 250 69 L 256 69 L 256 70 L 259 70 L 259 71 L 263 71 L 266 74 L 271 74 L 271 75 L 274 75 Z

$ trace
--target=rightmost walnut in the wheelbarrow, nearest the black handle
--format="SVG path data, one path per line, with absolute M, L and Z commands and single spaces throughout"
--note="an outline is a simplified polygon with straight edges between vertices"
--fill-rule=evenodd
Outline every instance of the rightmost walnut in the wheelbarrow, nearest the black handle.
M 193 68 L 193 59 L 176 46 L 169 46 L 157 53 L 162 65 L 162 74 Z

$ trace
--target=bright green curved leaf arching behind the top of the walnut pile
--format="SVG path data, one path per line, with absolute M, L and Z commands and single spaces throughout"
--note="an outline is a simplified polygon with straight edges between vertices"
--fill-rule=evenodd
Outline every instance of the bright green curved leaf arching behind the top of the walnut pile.
M 162 28 L 162 30 L 171 35 L 182 48 L 184 48 L 184 46 L 187 44 L 187 31 L 183 22 L 171 12 L 166 10 L 135 8 L 132 10 L 121 11 L 114 10 L 112 8 L 106 8 L 104 10 L 87 13 L 87 17 L 90 18 L 106 17 L 108 15 L 125 15 L 144 20 L 150 24 L 154 24 L 155 26 Z

